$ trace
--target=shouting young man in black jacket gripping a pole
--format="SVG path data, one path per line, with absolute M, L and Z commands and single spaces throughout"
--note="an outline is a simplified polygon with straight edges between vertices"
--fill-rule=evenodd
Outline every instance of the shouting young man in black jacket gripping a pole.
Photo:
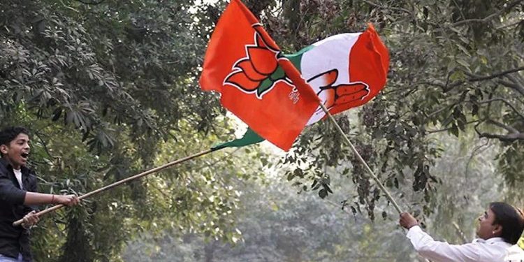
M 74 195 L 36 193 L 36 175 L 26 167 L 29 132 L 10 127 L 0 132 L 0 262 L 31 261 L 29 230 L 38 222 L 34 205 L 76 205 Z M 24 219 L 22 226 L 13 222 Z

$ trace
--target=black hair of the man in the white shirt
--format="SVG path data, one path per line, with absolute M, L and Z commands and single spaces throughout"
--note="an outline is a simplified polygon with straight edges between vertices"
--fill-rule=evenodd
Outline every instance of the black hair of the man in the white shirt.
M 502 226 L 501 238 L 515 245 L 524 231 L 524 215 L 521 210 L 502 202 L 490 203 L 490 210 L 495 214 L 495 224 Z

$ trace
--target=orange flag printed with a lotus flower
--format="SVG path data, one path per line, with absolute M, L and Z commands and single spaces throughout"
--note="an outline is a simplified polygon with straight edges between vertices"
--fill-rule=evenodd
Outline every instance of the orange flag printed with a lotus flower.
M 320 101 L 239 0 L 231 0 L 214 29 L 199 82 L 282 150 L 289 150 Z

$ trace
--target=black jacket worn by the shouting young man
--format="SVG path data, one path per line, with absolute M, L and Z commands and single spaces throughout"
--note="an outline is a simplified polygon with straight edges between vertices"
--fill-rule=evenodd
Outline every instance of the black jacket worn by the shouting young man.
M 10 163 L 0 159 L 0 254 L 16 258 L 22 253 L 24 261 L 31 261 L 29 231 L 22 226 L 13 226 L 13 222 L 36 210 L 24 205 L 26 192 L 36 192 L 36 175 L 24 166 L 21 171 L 23 189 L 20 189 Z

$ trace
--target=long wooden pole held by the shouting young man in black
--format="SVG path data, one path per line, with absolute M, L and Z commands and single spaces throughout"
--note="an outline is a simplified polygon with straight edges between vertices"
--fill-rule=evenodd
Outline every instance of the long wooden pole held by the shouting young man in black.
M 203 156 L 203 155 L 205 155 L 205 154 L 209 154 L 210 152 L 214 152 L 214 151 L 221 150 L 222 148 L 225 148 L 225 147 L 221 147 L 221 148 L 220 148 L 220 147 L 219 147 L 219 148 L 212 148 L 212 149 L 210 149 L 210 150 L 205 150 L 205 151 L 203 151 L 203 152 L 196 153 L 196 154 L 191 155 L 191 156 L 189 156 L 189 157 L 184 157 L 184 158 L 182 158 L 182 159 L 177 159 L 177 160 L 175 160 L 175 161 L 171 161 L 171 162 L 166 163 L 166 164 L 164 164 L 164 165 L 162 165 L 162 166 L 158 166 L 158 167 L 153 168 L 153 169 L 151 169 L 151 170 L 147 170 L 147 171 L 145 171 L 145 172 L 143 172 L 143 173 L 140 173 L 140 174 L 138 174 L 138 175 L 133 175 L 132 177 L 124 178 L 123 180 L 119 180 L 119 181 L 114 182 L 114 183 L 112 183 L 112 184 L 108 184 L 108 185 L 105 186 L 105 187 L 101 187 L 101 188 L 96 189 L 96 190 L 94 190 L 94 191 L 91 191 L 91 192 L 89 192 L 89 193 L 87 193 L 87 194 L 83 194 L 82 196 L 78 196 L 78 199 L 79 199 L 79 200 L 82 200 L 82 199 L 87 198 L 87 197 L 89 197 L 89 196 L 92 196 L 92 195 L 94 195 L 94 194 L 99 194 L 99 193 L 102 192 L 102 191 L 106 191 L 106 190 L 108 190 L 108 189 L 112 189 L 113 187 L 117 187 L 117 186 L 119 186 L 120 184 L 124 184 L 125 182 L 129 182 L 129 181 L 131 181 L 131 180 L 136 180 L 136 179 L 138 179 L 138 178 L 140 178 L 140 177 L 145 177 L 146 175 L 150 175 L 150 174 L 152 174 L 152 173 L 157 173 L 157 172 L 159 172 L 160 170 L 163 170 L 163 169 L 169 168 L 170 166 L 175 166 L 175 165 L 177 165 L 177 164 L 179 164 L 179 163 L 182 163 L 182 162 L 185 162 L 185 161 L 188 161 L 188 160 L 191 160 L 191 159 L 195 159 L 195 158 L 197 158 L 197 157 L 201 157 L 201 156 Z M 36 215 L 36 216 L 41 216 L 41 215 L 43 215 L 43 214 L 47 214 L 47 213 L 52 212 L 52 211 L 54 211 L 54 210 L 58 210 L 59 208 L 62 208 L 62 207 L 64 207 L 64 205 L 61 205 L 61 204 L 60 204 L 60 205 L 54 205 L 54 206 L 52 206 L 51 208 L 47 208 L 47 209 L 45 209 L 45 210 L 42 210 L 41 212 L 36 213 L 35 215 Z M 13 222 L 13 226 L 19 226 L 20 224 L 22 224 L 22 222 L 23 222 L 23 219 L 17 220 L 17 221 L 15 221 L 15 222 Z

